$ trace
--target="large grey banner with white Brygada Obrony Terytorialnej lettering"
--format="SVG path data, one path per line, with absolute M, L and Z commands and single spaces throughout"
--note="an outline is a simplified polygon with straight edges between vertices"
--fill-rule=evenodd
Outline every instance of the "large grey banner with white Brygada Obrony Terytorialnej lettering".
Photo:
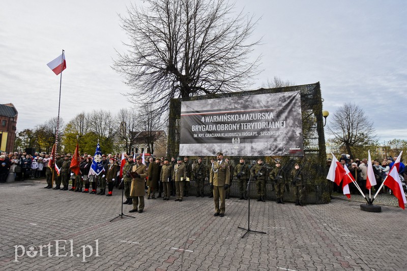
M 303 156 L 299 91 L 183 101 L 180 155 Z

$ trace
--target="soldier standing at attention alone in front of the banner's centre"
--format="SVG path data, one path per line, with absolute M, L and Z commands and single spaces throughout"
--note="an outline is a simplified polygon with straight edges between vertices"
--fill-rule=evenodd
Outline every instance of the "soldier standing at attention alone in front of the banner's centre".
M 213 200 L 215 203 L 214 216 L 223 217 L 225 215 L 225 190 L 230 186 L 230 168 L 227 162 L 223 160 L 223 153 L 218 152 L 216 159 L 217 161 L 212 164 L 209 183 L 213 191 Z

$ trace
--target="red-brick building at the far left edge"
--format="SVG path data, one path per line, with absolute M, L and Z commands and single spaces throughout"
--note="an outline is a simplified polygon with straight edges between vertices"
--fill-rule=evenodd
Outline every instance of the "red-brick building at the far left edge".
M 13 104 L 0 105 L 0 150 L 14 151 L 18 112 Z

